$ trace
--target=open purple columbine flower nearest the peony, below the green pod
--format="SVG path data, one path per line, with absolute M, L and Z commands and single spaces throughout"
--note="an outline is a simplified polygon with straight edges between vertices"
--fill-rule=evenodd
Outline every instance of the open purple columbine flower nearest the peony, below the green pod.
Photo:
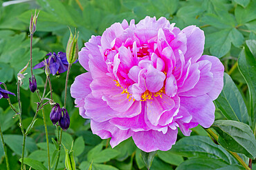
M 48 59 L 46 59 L 46 61 L 42 61 L 41 63 L 38 63 L 37 65 L 35 65 L 33 69 L 45 67 L 46 66 L 45 62 L 47 62 L 51 70 L 51 74 L 53 74 L 53 76 L 55 74 L 60 74 L 68 70 L 68 61 L 66 61 L 66 53 L 58 52 L 58 54 L 56 55 L 55 52 L 53 53 L 49 52 L 46 56 L 49 56 Z

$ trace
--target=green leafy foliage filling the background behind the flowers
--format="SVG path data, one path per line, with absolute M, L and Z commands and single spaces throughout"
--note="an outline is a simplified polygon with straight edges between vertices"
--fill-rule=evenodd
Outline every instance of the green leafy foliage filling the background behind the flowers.
M 255 134 L 255 0 L 80 0 L 79 3 L 77 2 L 37 0 L 3 7 L 6 1 L 0 0 L 0 81 L 8 85 L 10 92 L 16 92 L 17 73 L 29 60 L 28 26 L 30 15 L 36 8 L 40 12 L 33 39 L 33 65 L 42 61 L 48 52 L 65 51 L 69 36 L 68 26 L 71 30 L 77 28 L 80 32 L 78 41 L 81 48 L 91 35 L 101 35 L 111 24 L 122 22 L 122 19 L 127 21 L 135 19 L 138 23 L 146 16 L 156 16 L 157 19 L 166 17 L 170 23 L 176 23 L 176 27 L 181 29 L 188 25 L 196 25 L 205 32 L 204 54 L 221 59 L 227 73 L 224 76 L 223 92 L 215 101 L 216 119 L 246 123 L 250 127 L 243 128 L 252 129 Z M 27 72 L 21 89 L 24 113 L 22 118 L 25 128 L 35 114 L 35 103 L 38 100 L 37 96 L 28 90 L 30 70 L 28 69 Z M 37 69 L 34 72 L 37 85 L 42 92 L 46 79 L 44 70 Z M 69 87 L 75 76 L 83 72 L 86 71 L 79 63 L 73 65 Z M 60 105 L 64 101 L 65 76 L 65 73 L 51 76 L 54 99 Z M 12 103 L 17 103 L 17 98 L 14 96 L 11 96 L 10 100 Z M 80 117 L 70 95 L 67 100 L 71 127 L 64 132 L 63 143 L 67 149 L 70 149 L 74 140 L 75 161 L 79 169 L 88 169 L 92 161 L 95 170 L 146 169 L 140 151 L 131 138 L 111 149 L 109 140 L 101 140 L 92 134 L 89 120 Z M 50 111 L 51 107 L 46 107 L 49 136 L 56 138 L 55 127 L 49 118 Z M 19 169 L 21 131 L 18 118 L 8 107 L 8 101 L 3 99 L 0 103 L 0 125 L 8 146 L 11 169 Z M 219 131 L 220 136 L 223 128 L 228 131 L 228 127 L 221 125 L 220 122 L 214 124 L 214 129 Z M 230 126 L 235 124 L 230 123 Z M 253 137 L 255 139 L 255 136 Z M 241 147 L 241 142 L 238 146 Z M 151 169 L 244 169 L 223 147 L 215 145 L 201 127 L 192 129 L 190 137 L 183 136 L 179 131 L 176 145 L 170 151 L 158 151 Z M 55 160 L 53 142 L 50 149 L 51 160 Z M 249 150 L 243 147 L 239 152 L 239 156 L 247 164 L 250 157 L 247 154 Z M 255 156 L 253 155 L 255 153 L 250 154 Z M 25 156 L 25 164 L 28 164 L 28 167 L 46 169 L 46 140 L 41 113 L 27 138 Z M 0 158 L 0 169 L 6 169 L 2 145 L 0 145 Z M 51 162 L 54 164 L 54 161 Z M 61 152 L 59 169 L 64 169 L 64 149 Z M 253 169 L 256 169 L 255 160 Z

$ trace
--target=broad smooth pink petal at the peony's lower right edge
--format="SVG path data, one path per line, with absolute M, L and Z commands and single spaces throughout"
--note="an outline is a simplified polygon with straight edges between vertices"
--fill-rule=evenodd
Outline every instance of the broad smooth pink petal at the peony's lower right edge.
M 208 128 L 214 122 L 215 106 L 207 94 L 197 97 L 181 96 L 181 106 L 188 110 L 196 123 Z M 181 112 L 181 111 L 180 111 Z M 180 113 L 183 114 L 182 112 Z

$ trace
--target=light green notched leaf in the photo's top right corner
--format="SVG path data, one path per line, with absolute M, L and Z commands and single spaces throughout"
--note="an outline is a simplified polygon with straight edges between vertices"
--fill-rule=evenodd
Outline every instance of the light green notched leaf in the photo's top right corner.
M 250 1 L 246 8 L 242 6 L 237 6 L 235 8 L 235 18 L 239 24 L 248 23 L 249 21 L 253 21 L 256 19 L 256 1 Z

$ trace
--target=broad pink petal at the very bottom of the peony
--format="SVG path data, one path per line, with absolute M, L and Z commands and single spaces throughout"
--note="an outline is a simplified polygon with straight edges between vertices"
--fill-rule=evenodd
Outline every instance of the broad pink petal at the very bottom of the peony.
M 167 133 L 161 131 L 138 131 L 135 132 L 132 138 L 136 146 L 145 151 L 152 152 L 156 150 L 167 151 L 172 148 L 177 138 L 178 130 L 167 129 Z

